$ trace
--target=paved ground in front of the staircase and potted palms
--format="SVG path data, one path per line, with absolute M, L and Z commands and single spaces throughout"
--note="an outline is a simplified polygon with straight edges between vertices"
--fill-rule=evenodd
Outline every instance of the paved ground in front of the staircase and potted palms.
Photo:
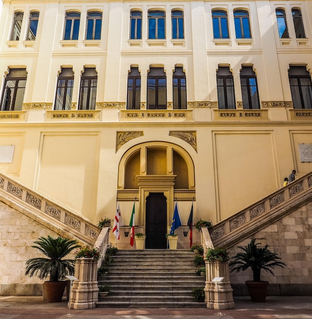
M 267 297 L 253 303 L 249 297 L 235 298 L 235 309 L 70 309 L 67 302 L 47 303 L 41 297 L 0 297 L 0 319 L 312 319 L 312 297 Z

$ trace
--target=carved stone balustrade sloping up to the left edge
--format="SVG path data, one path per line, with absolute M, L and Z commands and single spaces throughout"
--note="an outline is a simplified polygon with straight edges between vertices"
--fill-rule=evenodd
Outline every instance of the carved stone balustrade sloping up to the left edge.
M 35 191 L 0 173 L 0 201 L 59 235 L 94 245 L 100 229 Z

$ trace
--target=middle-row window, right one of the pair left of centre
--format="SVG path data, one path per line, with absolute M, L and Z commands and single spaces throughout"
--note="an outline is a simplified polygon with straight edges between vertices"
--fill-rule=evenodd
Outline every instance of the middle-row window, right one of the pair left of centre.
M 85 68 L 80 82 L 79 110 L 94 110 L 97 73 L 95 68 Z

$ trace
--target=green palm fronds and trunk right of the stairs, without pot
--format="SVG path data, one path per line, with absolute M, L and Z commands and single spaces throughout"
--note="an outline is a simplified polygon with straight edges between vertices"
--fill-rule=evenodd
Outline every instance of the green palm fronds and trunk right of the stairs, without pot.
M 246 247 L 239 246 L 244 252 L 237 253 L 229 262 L 229 267 L 231 267 L 231 272 L 240 272 L 251 268 L 253 281 L 261 281 L 262 269 L 274 276 L 271 269 L 276 267 L 284 268 L 286 264 L 280 261 L 281 258 L 276 253 L 268 249 L 268 245 L 258 247 L 260 243 L 255 243 L 255 241 L 256 239 L 252 238 Z

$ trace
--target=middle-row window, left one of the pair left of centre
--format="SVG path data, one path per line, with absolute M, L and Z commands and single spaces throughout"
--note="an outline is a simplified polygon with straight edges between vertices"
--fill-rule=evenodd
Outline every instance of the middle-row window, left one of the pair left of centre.
M 54 110 L 70 110 L 74 74 L 72 68 L 62 68 L 59 74 Z

